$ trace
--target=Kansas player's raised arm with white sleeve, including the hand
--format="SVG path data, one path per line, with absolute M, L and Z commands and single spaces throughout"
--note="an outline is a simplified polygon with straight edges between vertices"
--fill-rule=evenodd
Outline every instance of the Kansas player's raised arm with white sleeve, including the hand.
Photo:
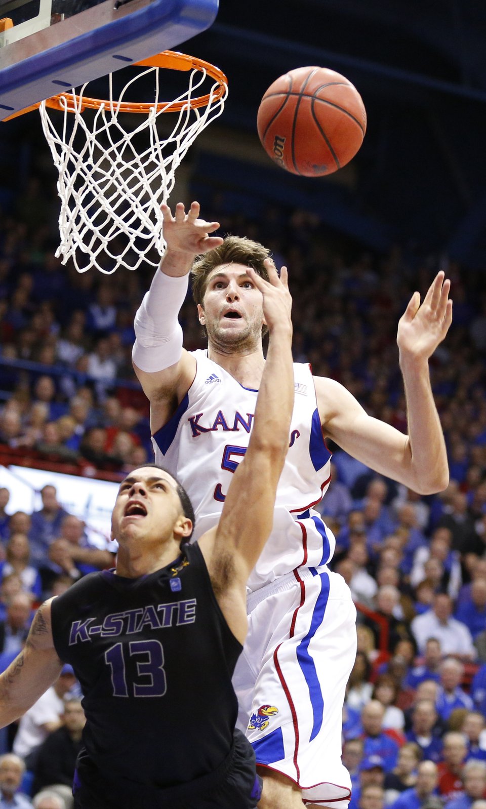
M 194 259 L 222 244 L 219 236 L 210 235 L 219 223 L 198 218 L 199 210 L 199 203 L 192 202 L 186 214 L 179 202 L 172 216 L 168 205 L 162 205 L 167 248 L 135 316 L 133 368 L 150 400 L 152 432 L 171 417 L 196 373 L 195 359 L 182 347 L 179 311 Z

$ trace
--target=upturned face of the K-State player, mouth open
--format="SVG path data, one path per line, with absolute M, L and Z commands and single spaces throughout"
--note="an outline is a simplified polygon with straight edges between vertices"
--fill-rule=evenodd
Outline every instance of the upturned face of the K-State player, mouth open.
M 135 469 L 120 484 L 112 513 L 112 537 L 161 543 L 189 536 L 191 521 L 183 514 L 177 485 L 168 472 L 154 467 Z

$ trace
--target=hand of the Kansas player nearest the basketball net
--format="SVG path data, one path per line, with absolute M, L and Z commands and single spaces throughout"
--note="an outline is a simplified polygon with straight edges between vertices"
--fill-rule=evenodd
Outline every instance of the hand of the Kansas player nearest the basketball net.
M 205 222 L 198 218 L 199 202 L 192 202 L 187 214 L 184 202 L 175 205 L 174 216 L 165 203 L 160 210 L 163 215 L 163 238 L 168 250 L 197 256 L 222 244 L 220 236 L 209 235 L 218 230 L 219 222 Z

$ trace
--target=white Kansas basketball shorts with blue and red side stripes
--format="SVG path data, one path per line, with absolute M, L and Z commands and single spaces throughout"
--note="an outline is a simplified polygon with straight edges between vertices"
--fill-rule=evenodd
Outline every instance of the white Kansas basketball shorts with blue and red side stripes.
M 263 657 L 247 736 L 257 764 L 298 784 L 306 802 L 345 806 L 342 705 L 356 655 L 349 588 L 329 572 L 306 579 L 287 621 Z

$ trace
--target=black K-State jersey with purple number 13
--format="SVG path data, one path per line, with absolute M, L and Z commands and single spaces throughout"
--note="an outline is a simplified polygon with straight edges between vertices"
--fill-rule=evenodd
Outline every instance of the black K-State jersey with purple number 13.
M 221 765 L 243 649 L 199 546 L 140 578 L 88 574 L 52 603 L 53 641 L 82 687 L 87 755 L 109 783 L 163 789 Z

